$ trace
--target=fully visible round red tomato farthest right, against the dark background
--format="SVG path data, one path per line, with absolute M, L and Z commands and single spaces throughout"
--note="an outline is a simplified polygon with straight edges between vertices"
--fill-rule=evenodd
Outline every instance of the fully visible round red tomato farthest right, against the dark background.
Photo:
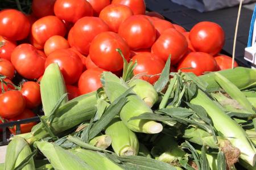
M 189 39 L 197 52 L 205 52 L 214 56 L 224 46 L 225 33 L 216 23 L 200 22 L 191 29 Z

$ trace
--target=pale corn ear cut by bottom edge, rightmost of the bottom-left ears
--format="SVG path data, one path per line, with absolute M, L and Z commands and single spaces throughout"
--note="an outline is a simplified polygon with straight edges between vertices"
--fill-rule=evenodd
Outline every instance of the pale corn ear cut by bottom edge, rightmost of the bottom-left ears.
M 95 170 L 122 169 L 117 164 L 106 158 L 104 154 L 100 152 L 89 151 L 82 148 L 76 148 L 75 150 L 71 150 L 71 152 Z

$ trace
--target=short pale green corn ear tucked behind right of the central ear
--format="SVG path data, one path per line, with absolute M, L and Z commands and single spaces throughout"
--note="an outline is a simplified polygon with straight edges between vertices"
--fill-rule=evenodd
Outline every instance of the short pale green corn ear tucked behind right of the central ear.
M 149 106 L 152 107 L 158 101 L 158 92 L 152 84 L 141 79 L 134 79 L 129 83 L 133 91 Z

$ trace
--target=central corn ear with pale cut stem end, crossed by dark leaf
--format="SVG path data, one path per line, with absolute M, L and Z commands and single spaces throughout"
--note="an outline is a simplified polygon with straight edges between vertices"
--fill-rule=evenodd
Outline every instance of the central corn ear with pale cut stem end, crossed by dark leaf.
M 129 89 L 127 84 L 110 72 L 104 72 L 102 76 L 102 84 L 108 99 L 113 102 L 125 91 Z M 130 118 L 139 116 L 143 113 L 152 113 L 144 101 L 137 95 L 131 94 L 127 96 L 127 103 L 123 106 L 120 117 L 125 125 L 135 131 L 141 133 L 159 133 L 163 130 L 162 124 L 150 120 L 130 120 Z

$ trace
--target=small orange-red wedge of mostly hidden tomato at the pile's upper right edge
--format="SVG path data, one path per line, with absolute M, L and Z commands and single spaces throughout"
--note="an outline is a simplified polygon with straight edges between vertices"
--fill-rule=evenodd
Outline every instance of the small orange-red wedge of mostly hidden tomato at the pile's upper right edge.
M 156 29 L 156 38 L 158 38 L 164 31 L 166 31 L 166 29 L 174 28 L 174 25 L 172 25 L 172 23 L 168 22 L 167 20 L 153 19 L 151 22 Z

